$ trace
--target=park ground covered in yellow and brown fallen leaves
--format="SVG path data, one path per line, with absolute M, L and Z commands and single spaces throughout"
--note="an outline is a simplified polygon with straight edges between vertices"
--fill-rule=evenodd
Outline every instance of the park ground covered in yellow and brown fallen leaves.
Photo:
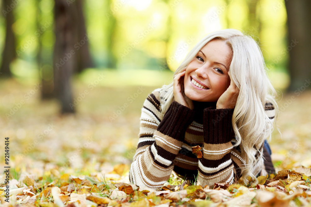
M 270 141 L 276 175 L 259 177 L 257 185 L 215 183 L 209 188 L 172 174 L 162 189 L 154 191 L 131 185 L 128 169 L 137 146 L 140 109 L 156 86 L 116 88 L 98 84 L 91 90 L 88 84 L 90 81 L 75 83 L 75 98 L 88 90 L 75 106 L 77 114 L 58 115 L 57 102 L 40 101 L 34 84 L 11 79 L 0 83 L 1 206 L 311 203 L 311 92 L 292 93 L 278 100 L 277 126 L 281 134 L 275 130 Z M 7 116 L 21 101 L 21 107 Z M 8 165 L 4 162 L 4 137 L 10 141 Z M 5 166 L 10 166 L 9 203 L 4 197 Z

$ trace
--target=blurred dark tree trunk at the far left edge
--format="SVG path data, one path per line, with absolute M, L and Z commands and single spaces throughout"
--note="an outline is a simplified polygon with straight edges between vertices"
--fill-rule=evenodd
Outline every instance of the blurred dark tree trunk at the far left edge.
M 2 76 L 11 77 L 12 73 L 10 70 L 10 63 L 16 58 L 15 50 L 15 34 L 12 30 L 12 25 L 14 23 L 13 8 L 11 8 L 11 0 L 2 1 L 2 13 L 6 20 L 6 34 L 5 34 L 5 44 L 2 51 L 2 64 L 0 67 L 0 72 Z M 14 4 L 13 4 L 14 5 Z

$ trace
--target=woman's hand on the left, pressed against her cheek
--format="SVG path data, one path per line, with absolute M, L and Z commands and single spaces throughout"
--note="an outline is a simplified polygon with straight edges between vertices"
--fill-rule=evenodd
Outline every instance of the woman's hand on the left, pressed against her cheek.
M 184 91 L 184 76 L 186 73 L 186 68 L 183 69 L 183 71 L 177 75 L 174 76 L 174 82 L 173 82 L 173 93 L 175 101 L 180 103 L 183 106 L 187 106 L 190 109 L 193 109 L 192 104 L 188 103 L 185 98 L 183 97 L 183 91 Z

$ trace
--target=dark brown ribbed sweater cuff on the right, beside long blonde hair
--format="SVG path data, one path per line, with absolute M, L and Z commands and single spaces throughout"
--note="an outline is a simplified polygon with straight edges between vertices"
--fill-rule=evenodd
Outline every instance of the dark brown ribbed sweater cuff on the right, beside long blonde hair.
M 223 144 L 233 136 L 232 114 L 234 109 L 204 109 L 204 143 Z

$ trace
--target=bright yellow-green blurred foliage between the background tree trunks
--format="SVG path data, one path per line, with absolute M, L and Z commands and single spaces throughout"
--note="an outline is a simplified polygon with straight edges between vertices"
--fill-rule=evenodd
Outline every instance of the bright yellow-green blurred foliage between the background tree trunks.
M 251 20 L 250 0 L 87 0 L 84 16 L 95 65 L 106 68 L 112 51 L 119 70 L 174 71 L 206 34 L 225 28 L 243 30 L 259 41 L 276 88 L 289 83 L 286 64 L 286 10 L 283 0 L 258 0 Z M 42 77 L 36 64 L 39 39 L 43 67 L 52 67 L 53 0 L 18 1 L 13 12 L 17 59 L 12 73 L 19 79 Z M 3 8 L 2 8 L 3 9 Z M 4 16 L 0 17 L 0 48 L 4 47 Z M 114 30 L 113 36 L 109 35 Z M 110 42 L 113 42 L 112 47 Z M 51 70 L 46 70 L 51 71 Z M 161 73 L 160 73 L 161 74 Z M 51 74 L 52 75 L 52 74 Z M 281 80 L 281 81 L 280 81 Z M 135 83 L 135 81 L 132 81 Z

